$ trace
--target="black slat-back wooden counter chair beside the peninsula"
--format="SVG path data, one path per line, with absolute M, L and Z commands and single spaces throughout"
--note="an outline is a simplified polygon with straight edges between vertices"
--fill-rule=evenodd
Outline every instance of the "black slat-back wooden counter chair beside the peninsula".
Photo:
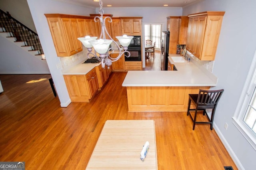
M 213 119 L 214 119 L 214 113 L 217 106 L 217 103 L 220 99 L 220 96 L 222 95 L 224 89 L 221 90 L 199 90 L 198 94 L 189 94 L 189 101 L 188 101 L 188 112 L 187 116 L 190 115 L 190 118 L 193 121 L 193 130 L 195 129 L 196 123 L 198 124 L 210 124 L 210 128 L 212 130 L 213 125 Z M 190 109 L 190 104 L 192 103 L 195 105 L 195 109 Z M 212 109 L 212 115 L 211 119 L 209 119 L 206 109 Z M 196 121 L 196 115 L 197 111 L 203 111 L 203 115 L 206 115 L 208 118 L 208 122 L 197 122 Z M 190 114 L 190 111 L 195 111 L 194 119 L 192 115 Z M 205 114 L 206 113 L 206 114 Z

